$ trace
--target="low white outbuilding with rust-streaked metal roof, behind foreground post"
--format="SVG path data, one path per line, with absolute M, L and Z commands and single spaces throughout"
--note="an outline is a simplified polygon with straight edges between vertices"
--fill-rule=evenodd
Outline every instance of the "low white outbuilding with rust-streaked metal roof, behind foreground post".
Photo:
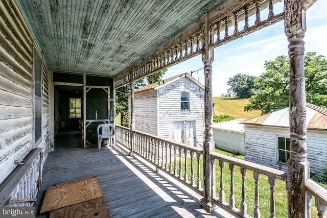
M 245 160 L 287 171 L 289 108 L 245 120 Z M 327 167 L 327 109 L 307 104 L 307 154 L 310 171 Z M 279 163 L 279 161 L 281 161 Z

